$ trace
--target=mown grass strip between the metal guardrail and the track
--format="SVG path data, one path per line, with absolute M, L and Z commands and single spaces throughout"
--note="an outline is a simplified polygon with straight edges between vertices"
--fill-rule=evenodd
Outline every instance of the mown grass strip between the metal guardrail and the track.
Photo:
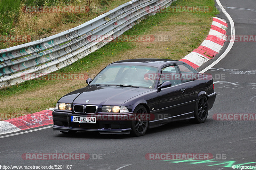
M 211 6 L 214 0 L 178 0 L 172 6 Z M 95 75 L 109 63 L 130 58 L 180 59 L 197 48 L 208 35 L 216 12 L 159 12 L 124 35 L 154 35 L 168 41 L 110 42 L 76 63 L 55 73 Z M 79 80 L 31 80 L 1 90 L 0 113 L 6 117 L 38 112 L 54 107 L 57 100 L 86 86 Z M 3 118 L 3 117 L 2 117 Z

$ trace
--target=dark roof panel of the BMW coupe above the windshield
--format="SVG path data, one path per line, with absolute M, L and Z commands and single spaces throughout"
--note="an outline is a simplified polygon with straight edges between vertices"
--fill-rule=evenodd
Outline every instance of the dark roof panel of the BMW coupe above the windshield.
M 121 60 L 111 63 L 109 65 L 142 65 L 142 66 L 153 66 L 153 67 L 163 67 L 170 64 L 177 64 L 177 63 L 184 63 L 178 60 L 171 60 L 171 59 L 158 59 L 158 58 L 138 58 L 138 59 L 128 59 L 128 60 Z

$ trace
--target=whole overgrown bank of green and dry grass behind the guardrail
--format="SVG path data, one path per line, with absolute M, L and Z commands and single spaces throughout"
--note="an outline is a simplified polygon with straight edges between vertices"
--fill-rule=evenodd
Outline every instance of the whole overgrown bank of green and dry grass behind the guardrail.
M 0 49 L 39 40 L 89 21 L 129 0 L 1 0 Z M 86 12 L 32 12 L 32 7 L 88 6 Z M 27 9 L 27 10 L 26 10 Z M 61 9 L 61 8 L 59 8 Z M 26 41 L 10 41 L 6 35 L 23 35 Z M 5 41 L 6 40 L 6 41 Z

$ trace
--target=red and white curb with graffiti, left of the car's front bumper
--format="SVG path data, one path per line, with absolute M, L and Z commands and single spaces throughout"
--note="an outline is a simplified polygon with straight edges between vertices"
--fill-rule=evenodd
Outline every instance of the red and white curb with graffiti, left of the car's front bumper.
M 0 121 L 0 135 L 53 124 L 53 109 L 55 108 Z

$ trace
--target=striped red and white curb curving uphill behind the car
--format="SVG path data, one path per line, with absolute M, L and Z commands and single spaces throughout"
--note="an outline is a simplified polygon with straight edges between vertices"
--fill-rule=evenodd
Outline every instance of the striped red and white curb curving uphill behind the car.
M 226 41 L 228 23 L 224 19 L 213 17 L 211 29 L 203 43 L 187 56 L 180 59 L 197 69 L 218 54 Z

